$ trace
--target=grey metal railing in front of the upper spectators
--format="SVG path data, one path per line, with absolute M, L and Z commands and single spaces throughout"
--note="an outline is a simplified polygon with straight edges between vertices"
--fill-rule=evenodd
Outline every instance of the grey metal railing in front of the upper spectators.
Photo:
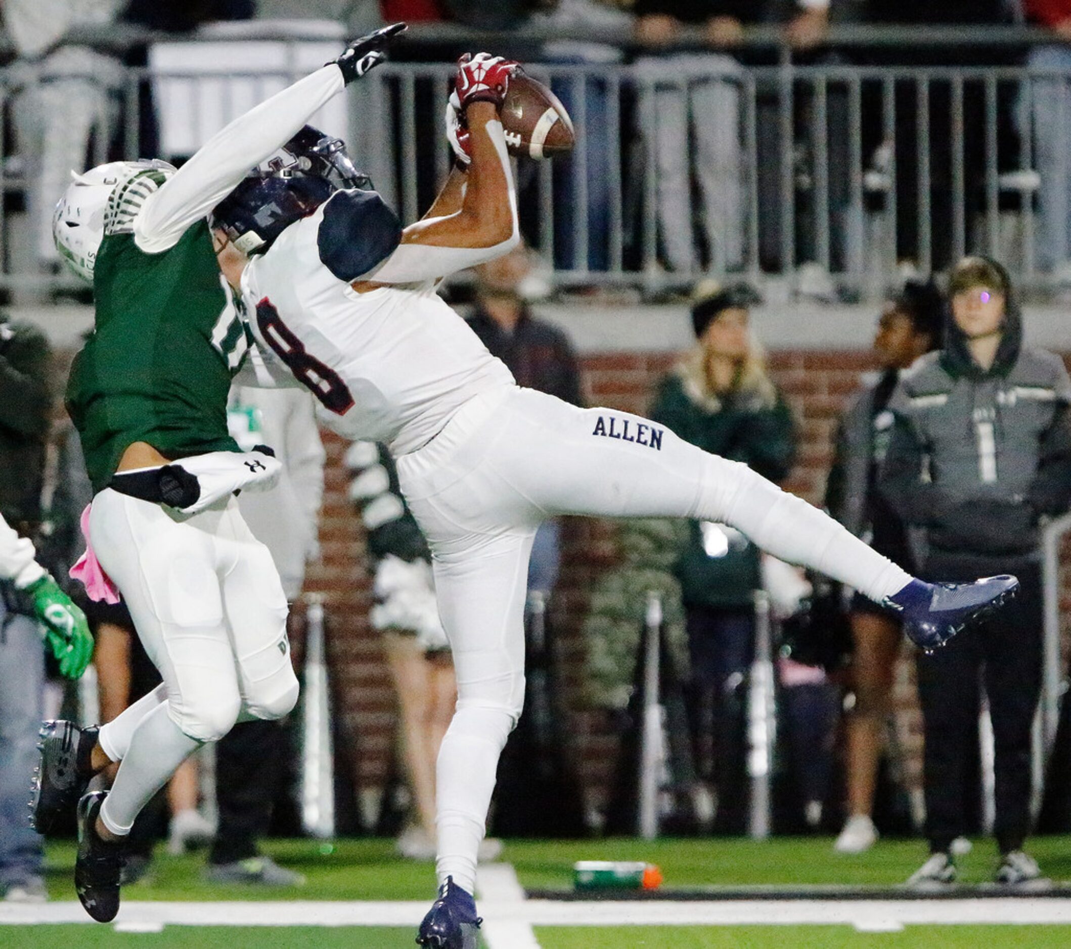
M 471 35 L 424 32 L 436 43 Z M 530 28 L 522 39 L 543 32 Z M 625 39 L 602 32 L 588 39 Z M 946 33 L 985 45 L 1044 35 L 847 27 L 833 39 L 924 45 L 947 42 Z M 653 291 L 740 273 L 853 299 L 880 292 L 905 267 L 927 273 L 970 251 L 1000 258 L 1031 287 L 1071 271 L 1071 64 L 797 65 L 780 31 L 756 28 L 748 36 L 753 48 L 776 46 L 781 64 L 745 67 L 687 44 L 631 63 L 530 64 L 577 131 L 569 158 L 522 159 L 517 170 L 523 229 L 558 285 Z M 172 56 L 161 58 L 164 67 L 125 67 L 110 81 L 51 81 L 97 93 L 91 162 L 182 157 L 250 102 L 303 75 L 296 49 L 333 42 L 221 37 L 206 68 L 177 67 Z M 273 65 L 221 68 L 233 61 L 224 52 L 236 43 L 275 43 L 282 51 L 266 60 Z M 427 208 L 449 167 L 441 114 L 451 74 L 449 62 L 389 63 L 335 110 L 345 112 L 348 128 L 335 121 L 331 131 L 348 133 L 351 151 L 405 220 Z M 10 71 L 0 75 L 13 116 L 25 95 Z M 42 270 L 27 249 L 51 192 L 65 182 L 47 182 L 49 194 L 42 192 L 29 212 L 15 210 L 18 196 L 36 186 L 40 164 L 34 154 L 0 155 L 0 286 L 69 282 Z

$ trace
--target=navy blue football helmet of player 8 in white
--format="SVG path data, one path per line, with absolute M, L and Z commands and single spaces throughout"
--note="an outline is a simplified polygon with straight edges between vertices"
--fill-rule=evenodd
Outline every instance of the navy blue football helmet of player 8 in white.
M 239 250 L 263 252 L 335 192 L 371 187 L 371 179 L 357 170 L 341 138 L 305 125 L 216 204 L 211 225 L 225 231 Z

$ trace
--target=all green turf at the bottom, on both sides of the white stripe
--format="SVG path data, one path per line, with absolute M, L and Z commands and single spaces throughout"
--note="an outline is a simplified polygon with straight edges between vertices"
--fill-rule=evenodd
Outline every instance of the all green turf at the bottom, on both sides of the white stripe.
M 1071 879 L 1071 838 L 1037 838 L 1030 842 L 1042 870 L 1057 882 Z M 114 925 L 93 923 L 52 924 L 81 919 L 80 908 L 66 904 L 72 915 L 57 919 L 49 916 L 49 907 L 40 907 L 31 920 L 9 916 L 11 922 L 36 921 L 39 925 L 0 925 L 0 947 L 2 949 L 95 949 L 95 947 L 132 947 L 132 949 L 170 949 L 170 947 L 225 947 L 245 949 L 263 946 L 278 947 L 351 947 L 351 949 L 401 949 L 411 947 L 416 920 L 423 913 L 421 904 L 433 896 L 434 870 L 429 863 L 414 864 L 394 856 L 393 841 L 350 840 L 333 845 L 316 841 L 271 841 L 268 852 L 281 863 L 300 870 L 307 877 L 307 884 L 295 889 L 267 889 L 253 887 L 218 887 L 207 884 L 201 877 L 203 855 L 170 857 L 163 853 L 157 856 L 151 876 L 123 890 L 124 903 L 146 900 L 178 904 L 172 910 L 184 915 L 166 916 L 168 920 L 160 931 L 126 932 L 137 922 L 134 907 L 119 920 L 120 930 Z M 674 888 L 740 888 L 758 887 L 821 887 L 821 886 L 874 886 L 889 887 L 904 882 L 925 858 L 925 846 L 921 841 L 881 841 L 873 851 L 859 856 L 842 856 L 832 851 L 829 838 L 778 839 L 768 842 L 753 842 L 739 839 L 705 840 L 660 840 L 652 843 L 631 839 L 589 841 L 510 841 L 504 859 L 512 864 L 521 884 L 528 889 L 569 890 L 572 885 L 572 864 L 584 859 L 646 860 L 658 863 L 665 877 L 665 890 Z M 966 884 L 989 881 L 996 863 L 996 851 L 989 841 L 977 841 L 972 853 L 961 858 L 962 879 Z M 48 847 L 48 886 L 54 900 L 74 899 L 72 870 L 74 845 L 70 842 L 51 844 Z M 233 908 L 218 914 L 220 901 L 238 901 Z M 332 909 L 325 904 L 320 910 L 310 907 L 304 901 L 331 901 L 331 906 L 342 907 L 343 917 L 331 917 Z M 257 902 L 254 906 L 241 904 Z M 302 904 L 295 904 L 302 901 Z M 399 901 L 418 901 L 405 909 L 407 915 L 379 915 L 383 906 L 397 907 Z M 953 901 L 959 902 L 959 901 Z M 1026 904 L 1042 904 L 1044 912 L 1052 915 L 1034 917 L 1045 924 L 1026 924 L 1029 918 Z M 201 904 L 201 905 L 198 905 Z M 955 907 L 946 901 L 926 904 L 932 907 L 946 904 L 949 910 Z M 504 904 L 500 904 L 504 905 Z M 516 903 L 515 906 L 524 906 Z M 534 904 L 538 908 L 540 904 Z M 945 916 L 924 916 L 930 924 L 915 924 L 918 917 L 906 917 L 906 927 L 899 932 L 866 932 L 857 930 L 875 928 L 895 929 L 895 916 L 902 904 L 892 909 L 880 910 L 891 914 L 889 919 L 868 916 L 859 909 L 860 903 L 845 901 L 827 904 L 813 901 L 796 901 L 790 904 L 791 917 L 785 924 L 763 924 L 776 922 L 770 915 L 769 903 L 748 903 L 752 907 L 744 917 L 723 917 L 723 906 L 730 904 L 704 902 L 653 904 L 593 904 L 593 903 L 543 903 L 543 906 L 568 908 L 571 915 L 562 915 L 557 908 L 555 915 L 539 917 L 542 923 L 531 927 L 527 949 L 621 949 L 621 947 L 652 947 L 652 949 L 718 949 L 718 947 L 800 947 L 800 949 L 840 949 L 840 947 L 874 947 L 874 949 L 906 949 L 906 947 L 933 947 L 955 949 L 955 947 L 992 946 L 993 949 L 1027 949 L 1027 947 L 1071 946 L 1071 924 L 1055 925 L 1066 919 L 1071 923 L 1071 902 L 1067 900 L 1011 900 L 995 903 L 994 914 L 983 917 L 983 921 L 994 923 L 977 924 L 979 917 L 959 910 L 956 917 L 963 924 Z M 624 908 L 622 908 L 622 905 Z M 687 916 L 690 906 L 713 906 L 712 915 Z M 811 905 L 811 915 L 800 918 L 798 907 Z M 978 901 L 969 900 L 975 907 Z M 488 918 L 485 949 L 516 949 L 510 937 L 503 939 L 501 931 L 495 935 L 496 905 L 493 900 L 483 903 Z M 1067 906 L 1067 909 L 1061 909 Z M 376 907 L 379 907 L 378 909 Z M 634 908 L 630 908 L 634 907 Z M 644 916 L 651 908 L 666 910 L 655 917 Z M 1053 908 L 1055 907 L 1055 909 Z M 222 907 L 221 907 L 222 908 Z M 600 910 L 605 910 L 599 916 Z M 1007 915 L 1006 914 L 1007 910 Z M 4 920 L 4 904 L 0 903 L 0 922 Z M 63 907 L 56 907 L 62 913 Z M 146 906 L 142 918 L 159 922 L 160 907 Z M 390 913 L 394 913 L 390 909 Z M 499 910 L 500 912 L 500 910 Z M 513 912 L 513 910 L 510 910 Z M 525 910 L 527 912 L 527 910 Z M 944 909 L 941 910 L 944 912 Z M 169 910 L 170 913 L 170 910 Z M 238 915 L 244 913 L 244 915 Z M 815 915 L 817 913 L 818 915 Z M 146 916 L 146 914 L 148 914 Z M 607 915 L 609 914 L 609 915 Z M 681 916 L 679 914 L 685 914 Z M 1066 915 L 1060 915 L 1066 914 Z M 524 914 L 523 914 L 524 915 Z M 952 916 L 955 916 L 952 913 Z M 525 916 L 525 919 L 529 917 Z M 721 918 L 733 924 L 714 925 Z M 815 921 L 836 919 L 841 925 L 817 925 Z M 214 923 L 233 919 L 241 925 L 215 925 Z M 201 921 L 206 924 L 198 924 Z M 402 927 L 403 920 L 412 920 Z M 600 921 L 594 925 L 592 922 Z M 668 923 L 691 921 L 693 925 L 669 925 Z M 1013 923 L 1017 925 L 998 925 Z M 335 925 L 315 923 L 335 922 Z M 627 924 L 631 921 L 632 924 Z M 303 925 L 306 923 L 307 925 Z M 355 923 L 376 923 L 358 925 Z M 268 923 L 274 923 L 268 928 Z M 379 925 L 379 923 L 388 923 Z M 648 923 L 648 924 L 644 924 Z M 702 924 L 699 924 L 702 923 Z M 741 923 L 741 924 L 737 924 Z M 791 923 L 791 924 L 789 924 Z M 887 923 L 891 923 L 887 925 Z M 967 924 L 969 923 L 969 924 Z M 527 924 L 527 923 L 525 923 Z M 853 925 L 854 924 L 854 925 Z M 151 929 L 151 927 L 150 927 Z

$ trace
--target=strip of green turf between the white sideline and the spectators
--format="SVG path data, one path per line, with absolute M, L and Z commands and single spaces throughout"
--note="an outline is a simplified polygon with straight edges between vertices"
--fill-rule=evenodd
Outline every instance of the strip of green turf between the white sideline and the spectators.
M 159 848 L 148 879 L 124 889 L 130 900 L 424 900 L 434 894 L 431 863 L 394 856 L 390 840 L 345 840 L 322 846 L 316 841 L 270 841 L 267 849 L 286 867 L 307 877 L 300 889 L 221 888 L 201 879 L 203 856 L 170 857 Z M 1071 881 L 1071 838 L 1039 837 L 1029 843 L 1042 871 Z M 644 841 L 615 838 L 590 841 L 510 841 L 503 859 L 529 889 L 569 889 L 577 860 L 646 860 L 658 863 L 665 886 L 895 886 L 926 857 L 919 840 L 881 841 L 866 854 L 834 854 L 829 838 L 778 838 L 756 842 L 738 838 Z M 975 842 L 959 859 L 964 883 L 984 883 L 996 867 L 990 840 Z M 54 899 L 73 899 L 74 844 L 48 848 L 48 886 Z

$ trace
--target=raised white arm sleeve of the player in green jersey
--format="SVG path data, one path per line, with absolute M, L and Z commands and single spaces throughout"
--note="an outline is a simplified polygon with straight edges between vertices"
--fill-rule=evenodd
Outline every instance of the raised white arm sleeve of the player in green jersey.
M 150 195 L 134 220 L 147 254 L 174 247 L 183 231 L 229 195 L 246 172 L 297 133 L 345 83 L 333 63 L 295 82 L 213 135 Z

